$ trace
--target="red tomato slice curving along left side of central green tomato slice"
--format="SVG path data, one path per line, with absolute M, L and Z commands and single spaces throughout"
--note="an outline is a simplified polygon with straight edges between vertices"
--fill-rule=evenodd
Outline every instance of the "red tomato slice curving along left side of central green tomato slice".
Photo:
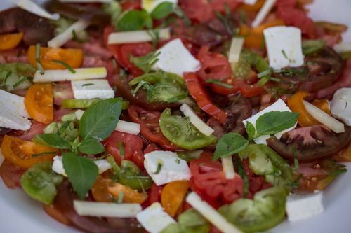
M 166 139 L 159 128 L 160 112 L 147 111 L 138 106 L 131 105 L 128 107 L 128 115 L 133 122 L 140 124 L 140 134 L 145 136 L 148 141 L 158 143 L 166 150 L 177 149 L 177 146 Z

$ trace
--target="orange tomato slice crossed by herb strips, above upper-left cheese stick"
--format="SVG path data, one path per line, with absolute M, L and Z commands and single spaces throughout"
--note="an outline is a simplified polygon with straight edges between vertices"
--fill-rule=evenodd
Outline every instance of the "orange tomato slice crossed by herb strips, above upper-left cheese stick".
M 37 67 L 35 50 L 35 45 L 29 47 L 27 59 L 30 64 Z M 74 48 L 40 48 L 40 62 L 44 69 L 66 69 L 65 66 L 54 62 L 54 60 L 65 62 L 72 68 L 79 68 L 83 62 L 83 52 Z

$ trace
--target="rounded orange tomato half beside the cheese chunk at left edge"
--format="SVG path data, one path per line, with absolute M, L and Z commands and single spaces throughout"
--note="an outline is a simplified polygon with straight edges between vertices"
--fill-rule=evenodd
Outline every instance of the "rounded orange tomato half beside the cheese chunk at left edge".
M 28 114 L 38 122 L 48 124 L 53 121 L 53 87 L 47 83 L 35 83 L 25 95 Z

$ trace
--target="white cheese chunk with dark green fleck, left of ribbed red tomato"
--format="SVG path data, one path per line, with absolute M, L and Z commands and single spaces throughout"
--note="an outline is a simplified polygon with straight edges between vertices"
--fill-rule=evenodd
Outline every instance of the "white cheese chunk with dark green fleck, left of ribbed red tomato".
M 171 151 L 152 151 L 145 154 L 144 166 L 157 185 L 172 181 L 190 180 L 190 169 L 187 162 L 178 158 Z M 161 167 L 161 169 L 159 168 Z M 157 170 L 158 173 L 157 173 Z

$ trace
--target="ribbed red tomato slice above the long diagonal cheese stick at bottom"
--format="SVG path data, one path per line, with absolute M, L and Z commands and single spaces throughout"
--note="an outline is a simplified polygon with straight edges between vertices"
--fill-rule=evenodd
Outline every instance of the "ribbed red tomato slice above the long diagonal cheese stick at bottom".
M 190 188 L 215 208 L 243 197 L 243 179 L 238 174 L 234 179 L 226 179 L 222 164 L 213 161 L 212 153 L 204 152 L 199 159 L 192 160 L 190 171 Z

